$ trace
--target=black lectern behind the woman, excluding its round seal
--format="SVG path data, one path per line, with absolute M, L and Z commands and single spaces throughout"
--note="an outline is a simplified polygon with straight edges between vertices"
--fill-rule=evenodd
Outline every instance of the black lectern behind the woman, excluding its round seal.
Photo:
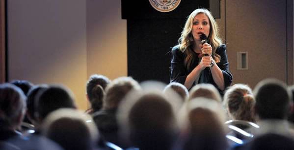
M 187 16 L 196 8 L 209 8 L 209 0 L 181 0 L 167 13 L 155 10 L 148 0 L 122 0 L 127 19 L 128 75 L 141 82 L 169 83 L 171 47 L 178 43 Z

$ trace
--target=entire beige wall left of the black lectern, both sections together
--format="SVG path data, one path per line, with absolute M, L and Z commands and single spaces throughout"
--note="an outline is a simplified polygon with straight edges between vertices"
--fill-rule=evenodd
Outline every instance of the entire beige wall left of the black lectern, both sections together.
M 69 87 L 80 109 L 93 73 L 127 75 L 121 0 L 8 0 L 8 76 Z

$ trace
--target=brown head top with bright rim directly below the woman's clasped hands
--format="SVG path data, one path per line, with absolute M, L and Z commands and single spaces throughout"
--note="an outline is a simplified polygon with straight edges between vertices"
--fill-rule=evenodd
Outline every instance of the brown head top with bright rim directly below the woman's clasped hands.
M 189 93 L 189 100 L 197 97 L 205 97 L 221 102 L 221 96 L 218 90 L 211 84 L 197 84 L 191 88 Z

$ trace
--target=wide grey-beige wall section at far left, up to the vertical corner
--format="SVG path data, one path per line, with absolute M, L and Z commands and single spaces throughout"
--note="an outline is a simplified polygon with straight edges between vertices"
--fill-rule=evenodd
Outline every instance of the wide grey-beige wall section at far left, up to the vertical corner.
M 7 0 L 8 76 L 62 84 L 86 108 L 86 2 Z

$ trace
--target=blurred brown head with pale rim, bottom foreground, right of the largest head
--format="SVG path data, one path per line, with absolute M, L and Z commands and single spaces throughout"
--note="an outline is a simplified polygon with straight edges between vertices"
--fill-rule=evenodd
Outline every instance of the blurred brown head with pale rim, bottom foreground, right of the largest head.
M 181 110 L 183 150 L 225 150 L 225 115 L 221 105 L 199 97 Z

